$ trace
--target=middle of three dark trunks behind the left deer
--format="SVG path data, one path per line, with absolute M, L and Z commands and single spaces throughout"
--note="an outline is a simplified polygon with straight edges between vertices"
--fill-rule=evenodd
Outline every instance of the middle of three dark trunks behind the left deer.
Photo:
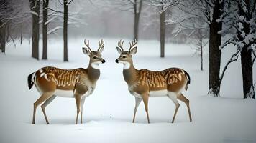
M 43 0 L 42 3 L 42 59 L 47 59 L 47 25 L 49 0 Z

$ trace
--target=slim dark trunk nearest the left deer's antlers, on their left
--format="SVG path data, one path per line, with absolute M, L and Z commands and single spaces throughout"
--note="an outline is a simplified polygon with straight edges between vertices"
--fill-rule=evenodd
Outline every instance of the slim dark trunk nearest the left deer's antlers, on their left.
M 64 61 L 68 61 L 68 0 L 64 0 L 64 22 L 63 22 L 63 40 L 64 40 Z

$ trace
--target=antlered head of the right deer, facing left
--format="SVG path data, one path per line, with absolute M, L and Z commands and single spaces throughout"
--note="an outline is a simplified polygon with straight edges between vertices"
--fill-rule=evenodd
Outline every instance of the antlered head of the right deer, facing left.
M 116 63 L 124 64 L 124 69 L 129 69 L 132 64 L 132 55 L 137 53 L 137 46 L 135 46 L 137 42 L 137 39 L 134 39 L 132 43 L 129 42 L 129 51 L 124 51 L 124 40 L 120 40 L 118 46 L 116 46 L 116 50 L 120 54 L 119 58 L 116 59 Z

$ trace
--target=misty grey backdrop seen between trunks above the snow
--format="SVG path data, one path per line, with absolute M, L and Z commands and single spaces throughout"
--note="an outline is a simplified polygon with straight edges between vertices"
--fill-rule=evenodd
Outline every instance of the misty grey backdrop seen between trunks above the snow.
M 32 37 L 32 14 L 30 14 L 29 1 L 10 1 L 13 10 L 19 14 L 9 24 L 9 34 L 13 39 L 29 40 Z M 42 3 L 42 1 L 41 1 Z M 42 38 L 42 4 L 40 4 L 40 38 Z M 132 39 L 134 14 L 131 6 L 123 6 L 119 1 L 83 1 L 74 0 L 68 6 L 68 39 L 73 37 L 118 38 Z M 49 38 L 63 38 L 63 16 L 55 11 L 63 11 L 62 1 L 49 1 Z M 143 1 L 140 14 L 139 37 L 140 39 L 160 39 L 160 8 L 151 6 L 150 1 Z M 172 9 L 165 11 L 169 17 Z M 175 24 L 165 26 L 165 41 L 172 43 L 186 42 L 186 35 L 174 36 Z M 11 30 L 12 29 L 12 30 Z M 22 36 L 21 36 L 22 35 Z

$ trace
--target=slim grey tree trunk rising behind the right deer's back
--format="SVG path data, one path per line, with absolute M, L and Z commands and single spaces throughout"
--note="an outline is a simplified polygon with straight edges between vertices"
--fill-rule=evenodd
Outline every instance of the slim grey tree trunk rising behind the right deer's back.
M 165 11 L 160 14 L 160 57 L 165 57 Z

